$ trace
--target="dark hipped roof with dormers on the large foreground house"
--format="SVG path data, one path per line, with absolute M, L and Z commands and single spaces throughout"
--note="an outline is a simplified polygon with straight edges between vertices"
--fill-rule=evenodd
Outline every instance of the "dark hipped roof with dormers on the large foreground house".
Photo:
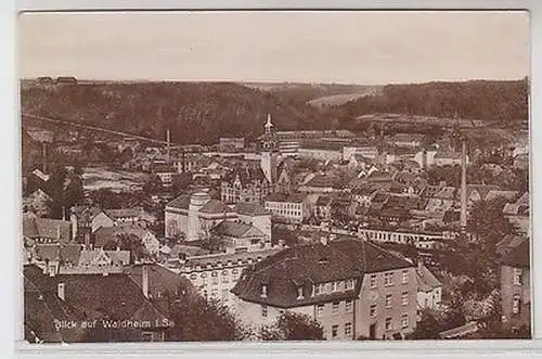
M 242 299 L 280 308 L 306 306 L 357 296 L 365 273 L 413 267 L 411 262 L 351 236 L 340 236 L 330 244 L 297 245 L 249 267 L 232 290 Z M 312 285 L 358 279 L 354 290 L 312 296 Z M 261 285 L 267 286 L 262 298 Z M 298 299 L 298 287 L 304 298 Z

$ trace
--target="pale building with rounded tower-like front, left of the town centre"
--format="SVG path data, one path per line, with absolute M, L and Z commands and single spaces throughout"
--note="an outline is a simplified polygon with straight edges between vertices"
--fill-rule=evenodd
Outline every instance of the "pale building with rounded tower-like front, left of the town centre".
M 166 205 L 166 238 L 183 235 L 189 242 L 209 235 L 223 220 L 236 219 L 235 211 L 223 202 L 210 197 L 208 191 L 182 194 Z

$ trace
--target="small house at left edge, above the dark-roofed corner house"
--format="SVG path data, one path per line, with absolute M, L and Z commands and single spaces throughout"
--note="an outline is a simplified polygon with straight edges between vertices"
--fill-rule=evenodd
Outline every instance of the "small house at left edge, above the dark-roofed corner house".
M 23 216 L 23 238 L 30 243 L 69 243 L 75 241 L 67 220 Z

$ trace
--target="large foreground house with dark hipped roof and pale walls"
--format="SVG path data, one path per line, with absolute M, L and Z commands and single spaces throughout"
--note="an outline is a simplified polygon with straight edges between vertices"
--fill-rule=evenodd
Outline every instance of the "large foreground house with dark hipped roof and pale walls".
M 232 290 L 234 311 L 255 328 L 284 311 L 318 320 L 326 339 L 402 338 L 416 326 L 415 266 L 343 236 L 299 245 L 249 267 Z

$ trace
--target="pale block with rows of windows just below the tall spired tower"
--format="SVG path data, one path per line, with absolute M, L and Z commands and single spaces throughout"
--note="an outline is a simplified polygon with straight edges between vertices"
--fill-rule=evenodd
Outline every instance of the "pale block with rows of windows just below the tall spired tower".
M 304 194 L 273 193 L 266 198 L 264 207 L 276 218 L 294 222 L 301 222 L 310 215 Z

